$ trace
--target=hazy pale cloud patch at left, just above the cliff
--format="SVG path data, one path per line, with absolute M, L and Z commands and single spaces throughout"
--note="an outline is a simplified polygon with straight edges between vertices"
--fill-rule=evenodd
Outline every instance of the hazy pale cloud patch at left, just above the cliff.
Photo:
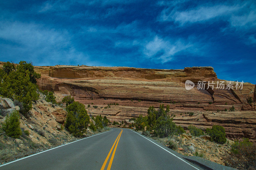
M 1 22 L 0 27 L 0 39 L 12 42 L 3 45 L 1 54 L 10 58 L 16 56 L 17 61 L 25 57 L 36 63 L 51 64 L 88 58 L 76 50 L 71 38 L 65 30 L 57 31 L 34 23 Z

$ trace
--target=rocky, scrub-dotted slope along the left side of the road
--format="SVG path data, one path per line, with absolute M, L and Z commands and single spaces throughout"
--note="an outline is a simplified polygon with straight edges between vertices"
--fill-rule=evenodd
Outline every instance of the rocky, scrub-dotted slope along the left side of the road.
M 64 128 L 67 112 L 60 106 L 46 102 L 45 96 L 40 93 L 39 100 L 33 102 L 32 109 L 26 117 L 20 114 L 22 135 L 19 138 L 8 137 L 0 128 L 0 165 L 80 139 L 72 136 Z M 0 125 L 5 121 L 6 115 L 20 110 L 17 103 L 8 98 L 0 97 L 0 107 Z M 87 129 L 84 137 L 94 133 L 98 131 L 92 132 L 91 129 Z

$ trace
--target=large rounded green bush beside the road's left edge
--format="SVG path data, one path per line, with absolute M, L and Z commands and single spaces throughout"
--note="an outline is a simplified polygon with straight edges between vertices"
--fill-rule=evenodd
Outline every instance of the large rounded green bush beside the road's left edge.
M 75 136 L 80 137 L 84 134 L 90 121 L 83 104 L 78 101 L 73 102 L 66 108 L 68 114 L 65 127 Z

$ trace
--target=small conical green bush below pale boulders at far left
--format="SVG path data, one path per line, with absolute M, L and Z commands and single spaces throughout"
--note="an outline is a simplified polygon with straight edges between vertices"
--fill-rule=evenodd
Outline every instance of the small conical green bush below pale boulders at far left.
M 5 122 L 2 124 L 6 135 L 14 138 L 20 137 L 22 135 L 20 129 L 20 115 L 18 111 L 14 111 L 6 116 Z

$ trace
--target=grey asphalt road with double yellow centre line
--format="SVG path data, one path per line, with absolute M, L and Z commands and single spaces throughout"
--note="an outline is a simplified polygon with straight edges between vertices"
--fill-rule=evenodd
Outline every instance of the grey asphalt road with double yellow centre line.
M 130 129 L 112 128 L 0 169 L 200 169 L 170 151 Z

